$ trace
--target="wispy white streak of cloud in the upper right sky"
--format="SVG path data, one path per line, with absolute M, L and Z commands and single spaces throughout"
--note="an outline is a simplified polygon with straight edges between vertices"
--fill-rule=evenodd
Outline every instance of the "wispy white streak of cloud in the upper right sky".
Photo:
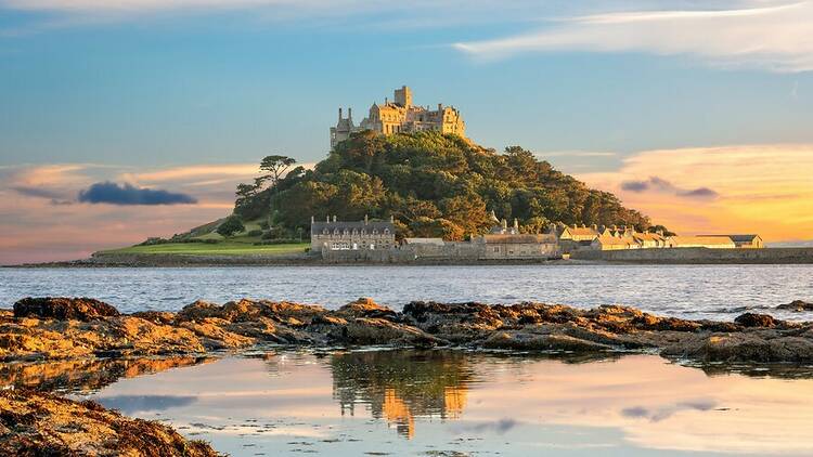
M 689 55 L 726 67 L 813 70 L 813 0 L 745 4 L 573 16 L 537 31 L 453 47 L 485 60 L 525 52 L 624 52 Z

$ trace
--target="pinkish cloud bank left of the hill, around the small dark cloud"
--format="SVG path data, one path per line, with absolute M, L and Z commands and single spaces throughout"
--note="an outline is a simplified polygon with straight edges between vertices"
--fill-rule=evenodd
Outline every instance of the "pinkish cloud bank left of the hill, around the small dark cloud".
M 256 165 L 241 164 L 139 169 L 95 164 L 0 166 L 0 264 L 86 258 L 149 236 L 181 233 L 229 214 L 237 183 L 256 174 Z M 108 181 L 136 190 L 170 188 L 198 201 L 76 205 L 81 191 Z

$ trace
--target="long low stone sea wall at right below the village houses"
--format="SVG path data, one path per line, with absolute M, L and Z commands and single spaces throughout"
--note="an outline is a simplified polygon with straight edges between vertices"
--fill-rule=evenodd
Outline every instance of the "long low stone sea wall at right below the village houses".
M 813 263 L 813 248 L 579 250 L 575 260 L 629 263 Z

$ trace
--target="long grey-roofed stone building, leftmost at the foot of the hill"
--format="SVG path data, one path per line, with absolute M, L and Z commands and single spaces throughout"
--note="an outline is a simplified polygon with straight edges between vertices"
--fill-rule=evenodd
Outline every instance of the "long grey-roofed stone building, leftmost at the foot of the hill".
M 311 252 L 391 249 L 395 246 L 396 230 L 391 218 L 384 222 L 371 221 L 365 216 L 363 221 L 344 222 L 328 216 L 321 222 L 311 217 Z

